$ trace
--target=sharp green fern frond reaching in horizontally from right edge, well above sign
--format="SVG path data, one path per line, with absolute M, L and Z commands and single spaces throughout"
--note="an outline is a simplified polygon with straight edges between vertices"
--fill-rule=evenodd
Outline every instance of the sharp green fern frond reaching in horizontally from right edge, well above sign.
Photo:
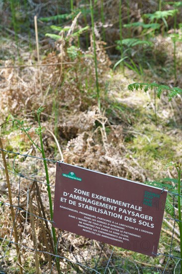
M 168 98 L 169 101 L 172 100 L 172 98 L 174 98 L 175 96 L 178 95 L 182 95 L 182 89 L 180 88 L 170 88 L 168 86 L 165 85 L 159 85 L 157 83 L 134 83 L 134 84 L 130 84 L 128 85 L 128 90 L 130 91 L 134 91 L 134 90 L 144 90 L 144 92 L 147 92 L 148 90 L 152 90 L 152 89 L 156 89 L 156 94 L 158 96 L 158 98 L 161 98 L 161 94 L 163 91 L 168 91 Z

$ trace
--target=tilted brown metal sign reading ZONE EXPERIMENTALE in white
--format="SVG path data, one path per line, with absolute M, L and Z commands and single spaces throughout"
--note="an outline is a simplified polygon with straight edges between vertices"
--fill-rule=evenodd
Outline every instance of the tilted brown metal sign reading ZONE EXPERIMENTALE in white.
M 54 226 L 155 257 L 167 191 L 57 163 Z

